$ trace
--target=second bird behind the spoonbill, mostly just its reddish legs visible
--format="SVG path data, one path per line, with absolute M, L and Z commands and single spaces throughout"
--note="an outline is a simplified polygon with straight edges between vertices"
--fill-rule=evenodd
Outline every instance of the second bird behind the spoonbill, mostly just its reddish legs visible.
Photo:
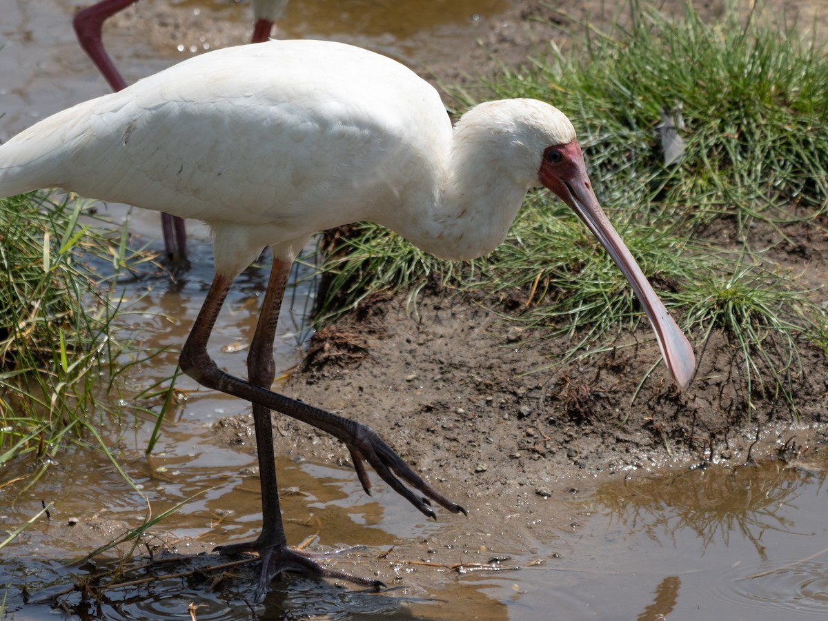
M 138 0 L 102 0 L 75 15 L 72 25 L 78 42 L 113 90 L 126 88 L 121 74 L 103 47 L 103 22 Z M 282 17 L 287 0 L 253 0 L 253 43 L 270 37 L 273 23 Z M 161 212 L 161 231 L 167 258 L 177 260 L 187 255 L 187 233 L 184 219 Z

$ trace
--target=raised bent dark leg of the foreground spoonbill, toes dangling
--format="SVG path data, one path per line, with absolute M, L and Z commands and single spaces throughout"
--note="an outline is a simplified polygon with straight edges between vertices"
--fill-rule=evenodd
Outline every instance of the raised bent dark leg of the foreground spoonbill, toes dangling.
M 394 491 L 406 498 L 424 515 L 435 517 L 429 498 L 451 513 L 466 513 L 463 507 L 445 498 L 426 483 L 369 426 L 285 397 L 268 388 L 255 386 L 219 369 L 207 353 L 207 341 L 232 282 L 231 278 L 219 274 L 214 278 L 204 306 L 201 307 L 190 335 L 181 348 L 180 363 L 184 373 L 202 386 L 282 412 L 339 438 L 348 447 L 359 482 L 368 494 L 371 493 L 371 481 L 368 479 L 363 461 L 367 461 Z M 424 497 L 412 492 L 406 483 Z

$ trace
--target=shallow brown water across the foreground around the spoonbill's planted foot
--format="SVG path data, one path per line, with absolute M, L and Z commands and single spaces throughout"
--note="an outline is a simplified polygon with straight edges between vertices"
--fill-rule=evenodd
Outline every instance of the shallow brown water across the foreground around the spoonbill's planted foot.
M 134 443 L 132 437 L 122 440 L 118 455 L 156 512 L 202 492 L 165 522 L 176 537 L 195 538 L 179 546 L 182 553 L 198 542 L 243 540 L 258 531 L 258 485 L 248 474 L 253 454 L 212 445 L 200 425 L 179 420 L 151 460 L 142 457 L 146 437 L 141 431 Z M 283 455 L 286 447 L 279 448 Z M 467 522 L 451 517 L 426 522 L 382 486 L 373 498 L 365 496 L 349 469 L 282 458 L 282 489 L 292 490 L 282 506 L 291 541 L 316 534 L 329 546 L 367 544 L 366 551 L 337 563 L 360 575 L 393 549 L 402 582 L 373 593 L 289 576 L 272 583 L 256 614 L 264 619 L 313 614 L 330 619 L 821 619 L 828 605 L 826 466 L 820 455 L 807 468 L 768 463 L 616 479 L 569 501 L 575 519 L 565 531 L 539 531 L 519 542 L 499 533 L 493 548 L 508 551 L 508 564 L 519 570 L 468 575 L 445 570 L 436 580 L 433 574 L 419 577 L 436 570 L 407 566 L 408 558 L 416 558 L 407 551 L 423 539 L 435 546 L 461 542 Z M 66 538 L 69 527 L 60 523 L 67 517 L 99 512 L 102 520 L 115 523 L 113 528 L 141 521 L 144 503 L 117 476 L 107 476 L 108 470 L 99 455 L 65 455 L 33 492 L 34 502 L 24 496 L 11 514 L 4 512 L 3 522 L 11 526 L 25 519 L 39 498 L 56 507 L 51 522 L 31 527 L 4 556 L 0 584 L 7 585 L 11 618 L 53 614 L 47 603 L 22 604 L 24 582 L 31 599 L 47 601 L 72 583 L 71 573 L 82 573 L 78 566 L 62 565 L 91 546 Z M 469 522 L 474 519 L 472 513 Z M 99 561 L 82 569 L 105 567 Z M 173 619 L 190 602 L 201 606 L 199 619 L 249 619 L 244 599 L 255 570 L 255 563 L 237 570 L 215 590 L 198 578 L 168 579 L 110 591 L 97 606 L 81 604 L 76 594 L 59 601 L 81 619 Z M 436 586 L 424 590 L 418 582 Z

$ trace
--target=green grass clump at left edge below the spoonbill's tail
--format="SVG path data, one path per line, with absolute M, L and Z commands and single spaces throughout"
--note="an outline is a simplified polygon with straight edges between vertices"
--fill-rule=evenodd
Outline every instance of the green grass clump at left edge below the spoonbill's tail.
M 124 235 L 79 224 L 86 211 L 39 194 L 0 200 L 0 469 L 31 457 L 29 485 L 68 441 L 92 436 L 110 455 L 95 426 L 123 345 L 113 275 L 142 258 Z

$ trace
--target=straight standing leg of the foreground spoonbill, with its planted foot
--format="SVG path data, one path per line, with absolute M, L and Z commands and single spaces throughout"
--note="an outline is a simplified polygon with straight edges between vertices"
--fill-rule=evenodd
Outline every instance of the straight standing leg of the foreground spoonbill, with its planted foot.
M 273 339 L 276 334 L 287 277 L 290 273 L 290 262 L 280 261 L 279 259 L 273 260 L 270 282 L 262 303 L 262 313 L 259 315 L 256 332 L 250 343 L 248 376 L 251 383 L 262 388 L 272 386 L 273 378 L 276 377 L 276 366 L 273 363 Z M 262 487 L 262 532 L 253 542 L 219 546 L 215 551 L 219 551 L 224 555 L 258 552 L 262 557 L 262 575 L 259 578 L 256 591 L 257 599 L 264 595 L 267 585 L 282 571 L 348 580 L 358 585 L 384 586 L 379 580 L 358 578 L 344 571 L 320 566 L 311 558 L 321 555 L 291 550 L 287 546 L 285 529 L 282 526 L 282 513 L 279 509 L 272 422 L 270 410 L 267 407 L 253 403 L 253 426 L 256 430 L 259 483 Z

